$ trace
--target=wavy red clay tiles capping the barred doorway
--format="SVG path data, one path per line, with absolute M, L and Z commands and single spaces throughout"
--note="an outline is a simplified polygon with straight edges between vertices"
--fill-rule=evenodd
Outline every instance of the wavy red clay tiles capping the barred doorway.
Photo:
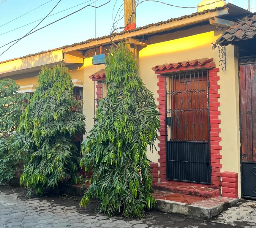
M 152 70 L 157 71 L 157 70 L 164 70 L 164 69 L 172 69 L 172 68 L 179 68 L 181 66 L 186 67 L 186 66 L 196 66 L 196 65 L 204 65 L 206 63 L 210 63 L 213 61 L 213 58 L 200 58 L 200 59 L 194 59 L 190 61 L 182 61 L 178 63 L 169 63 L 169 64 L 163 64 L 163 65 L 157 65 L 155 67 L 152 67 Z

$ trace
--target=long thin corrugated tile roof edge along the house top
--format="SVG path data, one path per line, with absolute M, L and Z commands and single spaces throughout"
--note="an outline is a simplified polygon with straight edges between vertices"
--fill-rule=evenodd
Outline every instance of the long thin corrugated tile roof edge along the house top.
M 206 13 L 208 13 L 208 12 L 215 12 L 215 11 L 218 11 L 218 10 L 220 10 L 220 9 L 224 9 L 224 8 L 226 8 L 226 7 L 227 7 L 227 6 L 216 7 L 215 9 L 207 9 L 207 10 L 203 10 L 202 12 L 195 12 L 195 13 L 192 13 L 192 14 L 190 14 L 190 15 L 184 15 L 184 16 L 181 16 L 181 17 L 179 17 L 179 18 L 171 18 L 171 19 L 166 20 L 166 21 L 160 21 L 160 22 L 157 22 L 157 23 L 148 24 L 148 25 L 146 25 L 146 26 L 138 27 L 138 28 L 135 28 L 135 29 L 132 29 L 132 30 L 121 31 L 121 32 L 119 32 L 119 33 L 113 33 L 113 36 L 122 35 L 122 34 L 125 34 L 125 33 L 132 33 L 132 32 L 139 31 L 139 30 L 143 30 L 143 29 L 147 29 L 147 28 L 150 28 L 150 27 L 157 27 L 157 26 L 159 26 L 159 25 L 168 24 L 168 23 L 171 23 L 171 22 L 173 22 L 173 21 L 183 20 L 184 18 L 192 18 L 192 17 L 194 17 L 194 16 L 203 15 L 203 14 L 206 14 Z M 74 46 L 76 46 L 76 45 L 83 45 L 83 44 L 89 43 L 89 42 L 91 42 L 91 41 L 102 40 L 102 39 L 106 39 L 106 38 L 108 38 L 108 37 L 109 37 L 109 35 L 103 36 L 103 37 L 98 37 L 98 38 L 95 38 L 95 39 L 88 39 L 88 40 L 83 41 L 83 42 L 74 43 L 74 44 L 71 44 L 71 45 L 65 45 L 65 46 L 58 47 L 58 48 L 54 48 L 54 49 L 51 49 L 51 50 L 41 51 L 41 52 L 38 52 L 38 53 L 29 54 L 29 55 L 22 56 L 22 57 L 19 57 L 19 58 L 12 58 L 12 59 L 5 60 L 5 61 L 0 62 L 0 64 L 1 64 L 1 63 L 5 63 L 5 62 L 9 62 L 9 61 L 13 61 L 13 60 L 17 60 L 17 59 L 20 59 L 20 58 L 26 58 L 26 57 L 29 57 L 29 56 L 35 56 L 35 55 L 39 55 L 39 54 L 43 54 L 43 53 L 47 53 L 47 52 L 51 52 L 51 51 L 55 51 L 55 50 L 64 49 L 64 48 L 67 48 L 67 47 L 74 47 Z

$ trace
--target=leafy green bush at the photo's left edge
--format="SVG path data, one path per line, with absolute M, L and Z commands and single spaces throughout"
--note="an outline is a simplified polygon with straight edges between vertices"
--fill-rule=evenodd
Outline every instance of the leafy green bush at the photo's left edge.
M 0 184 L 8 183 L 15 175 L 20 156 L 10 150 L 10 138 L 20 122 L 30 94 L 19 93 L 20 85 L 12 79 L 0 80 Z

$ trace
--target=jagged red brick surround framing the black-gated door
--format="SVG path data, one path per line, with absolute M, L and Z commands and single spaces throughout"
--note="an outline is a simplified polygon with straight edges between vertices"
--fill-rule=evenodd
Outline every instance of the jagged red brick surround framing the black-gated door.
M 221 141 L 221 137 L 219 137 L 219 132 L 221 129 L 219 128 L 220 124 L 220 111 L 218 107 L 220 103 L 218 98 L 220 94 L 218 93 L 218 89 L 220 86 L 218 85 L 218 76 L 219 68 L 214 68 L 209 70 L 209 114 L 210 114 L 210 153 L 211 153 L 211 166 L 212 166 L 212 173 L 211 173 L 211 185 L 204 185 L 204 184 L 196 184 L 196 183 L 189 183 L 189 182 L 178 182 L 178 181 L 167 181 L 166 180 L 166 157 L 165 157 L 165 76 L 164 75 L 157 75 L 158 78 L 158 98 L 160 112 L 160 136 L 159 136 L 159 151 L 158 154 L 160 158 L 158 159 L 160 163 L 160 167 L 158 168 L 160 171 L 159 178 L 161 182 L 172 182 L 172 183 L 181 183 L 184 185 L 193 185 L 193 186 L 200 186 L 200 187 L 212 187 L 220 189 L 221 186 L 221 172 L 220 169 L 222 168 L 222 164 L 220 160 L 222 156 L 220 155 L 220 150 L 222 147 L 219 145 Z

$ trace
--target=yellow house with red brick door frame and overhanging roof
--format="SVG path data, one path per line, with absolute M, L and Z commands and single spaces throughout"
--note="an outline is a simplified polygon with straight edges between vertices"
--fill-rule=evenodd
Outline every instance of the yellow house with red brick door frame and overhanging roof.
M 256 186 L 249 189 L 241 182 L 245 178 L 241 161 L 247 160 L 240 152 L 239 48 L 216 43 L 227 29 L 252 15 L 233 4 L 216 4 L 215 8 L 209 5 L 212 9 L 199 7 L 191 15 L 116 33 L 113 41 L 125 40 L 138 58 L 139 76 L 153 92 L 161 113 L 157 151 L 147 153 L 158 166 L 154 184 L 164 183 L 170 189 L 187 186 L 212 192 L 212 196 L 256 198 Z M 21 92 L 33 92 L 42 65 L 64 62 L 75 94 L 86 98 L 83 112 L 89 132 L 97 101 L 106 92 L 105 66 L 93 65 L 92 56 L 108 53 L 111 44 L 105 36 L 3 61 L 0 78 L 16 80 Z M 248 175 L 256 184 L 256 160 L 250 164 L 255 176 Z

